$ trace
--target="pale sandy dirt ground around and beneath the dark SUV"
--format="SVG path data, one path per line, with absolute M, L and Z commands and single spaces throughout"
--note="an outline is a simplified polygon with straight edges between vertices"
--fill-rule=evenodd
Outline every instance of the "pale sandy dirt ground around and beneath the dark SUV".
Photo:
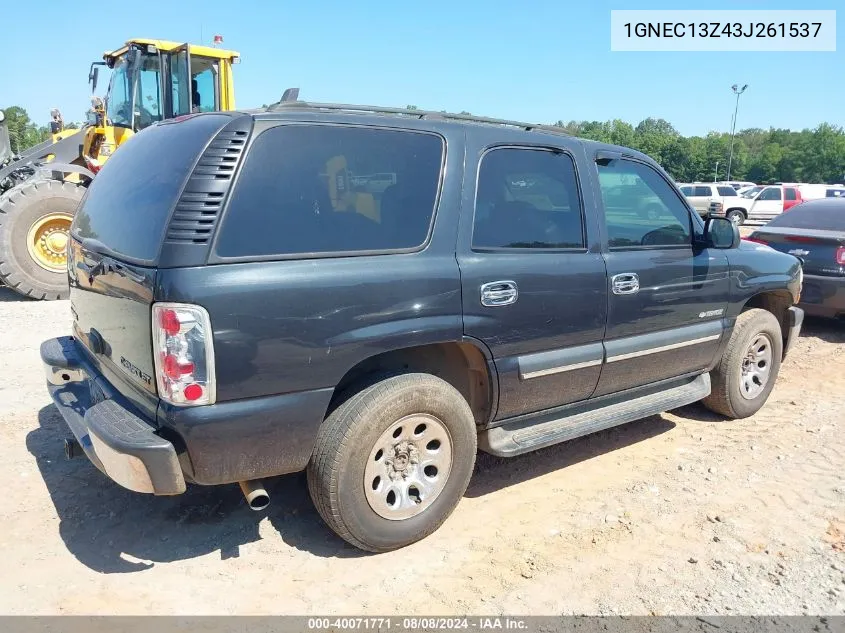
M 0 289 L 0 613 L 845 613 L 845 324 L 811 320 L 767 406 L 699 406 L 512 460 L 481 455 L 432 537 L 364 555 L 304 477 L 138 495 L 84 459 L 38 344 L 67 302 Z

